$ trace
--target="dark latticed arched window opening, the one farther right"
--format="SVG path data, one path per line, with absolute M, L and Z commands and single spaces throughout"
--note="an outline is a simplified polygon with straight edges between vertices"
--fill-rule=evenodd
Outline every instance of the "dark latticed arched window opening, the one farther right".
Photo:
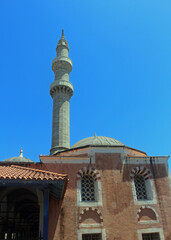
M 135 174 L 134 184 L 137 200 L 147 200 L 147 190 L 144 176 L 142 176 L 141 174 Z

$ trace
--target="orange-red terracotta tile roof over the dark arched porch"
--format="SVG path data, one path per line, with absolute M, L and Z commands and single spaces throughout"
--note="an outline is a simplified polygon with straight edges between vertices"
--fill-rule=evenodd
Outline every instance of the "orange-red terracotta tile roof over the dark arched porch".
M 18 165 L 0 166 L 0 179 L 67 180 L 67 175 Z

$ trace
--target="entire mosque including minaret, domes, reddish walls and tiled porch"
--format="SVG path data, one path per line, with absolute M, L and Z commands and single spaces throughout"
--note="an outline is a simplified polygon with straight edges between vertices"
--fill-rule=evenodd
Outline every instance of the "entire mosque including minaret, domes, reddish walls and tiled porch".
M 171 240 L 168 156 L 104 136 L 70 147 L 72 61 L 62 32 L 52 62 L 52 146 L 0 162 L 0 239 Z

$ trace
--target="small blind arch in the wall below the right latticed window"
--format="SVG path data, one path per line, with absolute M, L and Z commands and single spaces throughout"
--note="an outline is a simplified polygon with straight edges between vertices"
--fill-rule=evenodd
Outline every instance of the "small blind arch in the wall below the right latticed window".
M 137 220 L 138 222 L 154 222 L 154 221 L 158 221 L 158 214 L 156 212 L 156 210 L 151 207 L 151 206 L 142 206 L 138 212 L 137 212 Z

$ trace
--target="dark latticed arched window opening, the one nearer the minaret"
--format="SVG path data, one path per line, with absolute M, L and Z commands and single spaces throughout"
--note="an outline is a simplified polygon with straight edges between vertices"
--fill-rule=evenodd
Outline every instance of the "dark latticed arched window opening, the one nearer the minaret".
M 83 175 L 81 178 L 81 199 L 83 202 L 92 202 L 96 200 L 95 180 L 89 175 Z

